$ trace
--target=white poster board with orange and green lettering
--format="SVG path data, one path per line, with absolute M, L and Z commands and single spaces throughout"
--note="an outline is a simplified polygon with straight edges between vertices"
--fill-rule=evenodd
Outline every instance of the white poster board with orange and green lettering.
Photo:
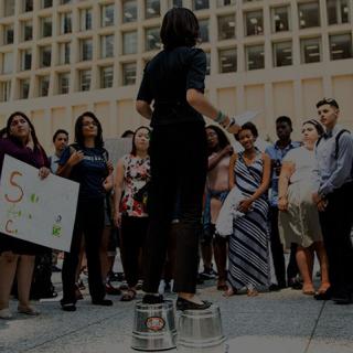
M 79 184 L 39 170 L 8 154 L 0 185 L 0 232 L 69 252 Z

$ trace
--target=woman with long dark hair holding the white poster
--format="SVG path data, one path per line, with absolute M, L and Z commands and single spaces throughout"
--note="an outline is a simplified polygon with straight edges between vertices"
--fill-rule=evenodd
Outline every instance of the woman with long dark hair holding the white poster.
M 23 113 L 13 113 L 8 119 L 7 137 L 0 139 L 0 172 L 4 154 L 38 168 L 41 179 L 46 178 L 50 173 L 46 154 L 38 141 L 32 122 Z M 19 178 L 15 181 L 10 181 L 10 183 L 21 195 L 22 190 Z M 15 204 L 20 200 L 10 200 L 10 202 Z M 43 247 L 40 245 L 0 233 L 0 319 L 10 319 L 12 317 L 9 310 L 9 298 L 15 274 L 19 293 L 18 311 L 29 315 L 39 314 L 30 306 L 30 290 L 34 258 L 36 254 L 42 252 Z

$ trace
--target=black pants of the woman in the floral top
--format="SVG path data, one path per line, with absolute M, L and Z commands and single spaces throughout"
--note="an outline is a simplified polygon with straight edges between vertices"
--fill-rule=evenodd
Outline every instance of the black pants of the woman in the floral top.
M 139 280 L 139 254 L 145 246 L 148 223 L 148 217 L 121 218 L 120 253 L 125 279 L 129 287 L 135 287 Z

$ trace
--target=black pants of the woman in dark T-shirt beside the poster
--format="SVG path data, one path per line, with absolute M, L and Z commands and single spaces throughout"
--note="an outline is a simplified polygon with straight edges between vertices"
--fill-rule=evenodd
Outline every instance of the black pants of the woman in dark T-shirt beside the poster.
M 78 201 L 71 252 L 65 253 L 62 269 L 63 302 L 76 302 L 75 277 L 78 265 L 82 236 L 85 239 L 85 250 L 88 266 L 88 287 L 93 300 L 105 297 L 101 280 L 99 248 L 104 228 L 104 200 Z

